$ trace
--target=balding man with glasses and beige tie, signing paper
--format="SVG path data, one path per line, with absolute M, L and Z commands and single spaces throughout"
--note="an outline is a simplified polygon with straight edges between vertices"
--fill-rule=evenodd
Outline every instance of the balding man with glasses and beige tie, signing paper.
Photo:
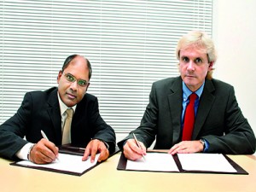
M 56 146 L 63 144 L 66 109 L 72 108 L 72 125 L 65 142 L 86 147 L 82 160 L 89 155 L 95 160 L 97 152 L 101 153 L 98 161 L 107 160 L 115 148 L 115 133 L 102 119 L 96 96 L 86 93 L 90 77 L 90 61 L 82 55 L 68 56 L 57 77 L 58 87 L 26 93 L 17 113 L 0 126 L 0 155 L 38 164 L 54 161 Z

